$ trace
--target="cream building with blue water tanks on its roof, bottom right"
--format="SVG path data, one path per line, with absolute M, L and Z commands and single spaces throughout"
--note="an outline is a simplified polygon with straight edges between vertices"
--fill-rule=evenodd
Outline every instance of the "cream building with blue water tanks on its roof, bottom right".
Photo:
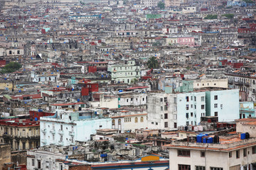
M 218 135 L 218 136 L 217 136 Z M 210 140 L 213 139 L 213 141 Z M 256 139 L 243 139 L 235 132 L 223 132 L 223 135 L 208 134 L 200 141 L 200 137 L 188 137 L 176 140 L 169 145 L 170 166 L 174 170 L 224 170 L 255 169 Z M 202 140 L 201 139 L 201 140 Z M 207 141 L 207 142 L 206 142 Z M 211 142 L 210 142 L 211 141 Z

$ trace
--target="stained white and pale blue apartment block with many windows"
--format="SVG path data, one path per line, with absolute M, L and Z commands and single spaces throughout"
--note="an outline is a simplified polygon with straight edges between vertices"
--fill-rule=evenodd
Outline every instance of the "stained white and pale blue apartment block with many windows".
M 197 125 L 206 116 L 206 93 L 148 94 L 149 129 L 175 130 Z

